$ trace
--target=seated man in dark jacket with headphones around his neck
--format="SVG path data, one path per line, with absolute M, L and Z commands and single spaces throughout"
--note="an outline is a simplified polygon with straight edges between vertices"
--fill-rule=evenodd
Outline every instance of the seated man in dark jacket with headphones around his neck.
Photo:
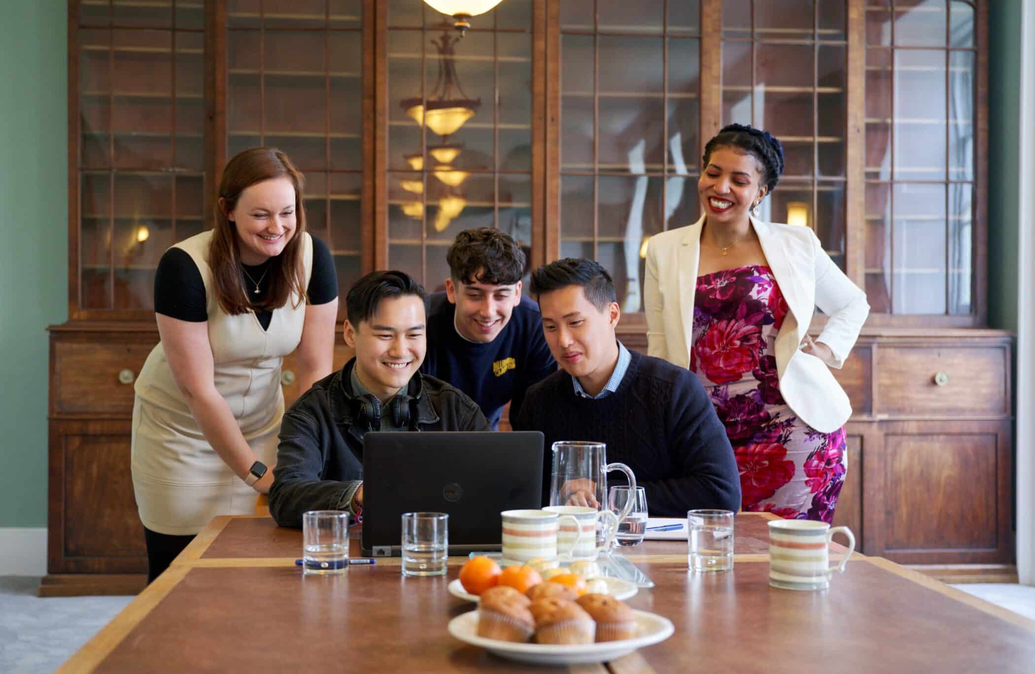
M 346 297 L 345 341 L 356 357 L 313 385 L 284 415 L 269 511 L 280 526 L 302 513 L 363 506 L 363 435 L 375 431 L 483 431 L 478 405 L 418 371 L 424 289 L 403 272 L 374 272 Z

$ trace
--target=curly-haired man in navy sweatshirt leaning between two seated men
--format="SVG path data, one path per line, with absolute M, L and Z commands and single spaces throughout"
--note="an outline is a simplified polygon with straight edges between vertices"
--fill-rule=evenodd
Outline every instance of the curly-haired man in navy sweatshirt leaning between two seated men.
M 513 423 L 528 388 L 557 369 L 539 309 L 522 296 L 525 253 L 511 237 L 482 227 L 457 234 L 447 259 L 446 292 L 430 300 L 420 371 L 474 399 L 494 429 L 509 402 Z

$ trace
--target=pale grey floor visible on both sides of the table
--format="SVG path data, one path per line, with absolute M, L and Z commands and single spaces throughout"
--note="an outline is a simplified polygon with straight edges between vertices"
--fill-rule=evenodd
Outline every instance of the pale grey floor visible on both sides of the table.
M 132 600 L 131 596 L 36 596 L 38 578 L 0 576 L 0 672 L 48 674 Z M 953 585 L 1035 620 L 1035 587 Z

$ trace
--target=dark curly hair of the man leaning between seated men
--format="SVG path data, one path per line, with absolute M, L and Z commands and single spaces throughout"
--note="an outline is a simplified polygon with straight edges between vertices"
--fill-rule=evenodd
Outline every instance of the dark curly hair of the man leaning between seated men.
M 494 227 L 465 229 L 446 253 L 453 281 L 512 285 L 525 274 L 525 251 Z

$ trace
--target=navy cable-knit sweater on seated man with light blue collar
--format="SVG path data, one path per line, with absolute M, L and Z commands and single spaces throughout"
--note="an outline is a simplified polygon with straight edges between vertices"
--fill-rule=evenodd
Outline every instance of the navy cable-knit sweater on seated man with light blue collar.
M 598 400 L 576 396 L 571 375 L 564 371 L 528 390 L 513 427 L 545 435 L 543 503 L 553 468 L 551 446 L 594 440 L 608 445 L 609 462 L 632 468 L 637 485 L 646 490 L 650 515 L 686 517 L 686 511 L 697 508 L 736 512 L 737 462 L 701 382 L 668 361 L 631 355 L 618 390 Z

